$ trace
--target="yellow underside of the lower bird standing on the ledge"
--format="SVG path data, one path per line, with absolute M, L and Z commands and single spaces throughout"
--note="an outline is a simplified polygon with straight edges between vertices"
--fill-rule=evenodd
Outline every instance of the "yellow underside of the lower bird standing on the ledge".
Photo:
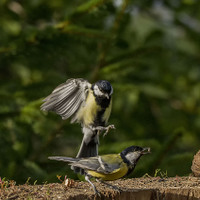
M 100 178 L 104 181 L 113 181 L 113 180 L 122 178 L 123 176 L 127 174 L 127 172 L 128 172 L 128 167 L 125 163 L 122 163 L 119 169 L 109 174 L 103 174 L 103 173 L 99 173 L 99 172 L 95 172 L 91 170 L 87 171 L 87 173 L 91 175 L 92 177 Z

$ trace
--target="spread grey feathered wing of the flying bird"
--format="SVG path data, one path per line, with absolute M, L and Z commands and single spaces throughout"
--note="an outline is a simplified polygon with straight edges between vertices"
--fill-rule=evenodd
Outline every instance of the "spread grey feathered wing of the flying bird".
M 91 88 L 91 84 L 87 80 L 68 79 L 43 100 L 41 110 L 54 111 L 62 119 L 67 119 L 73 116 L 86 100 L 89 88 Z M 76 119 L 72 119 L 72 121 L 74 122 Z

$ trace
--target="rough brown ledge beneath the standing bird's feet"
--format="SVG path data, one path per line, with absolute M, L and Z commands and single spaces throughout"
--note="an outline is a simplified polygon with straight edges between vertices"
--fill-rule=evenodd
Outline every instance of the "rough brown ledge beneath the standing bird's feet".
M 101 193 L 95 196 L 87 182 L 68 184 L 11 185 L 0 189 L 0 199 L 135 199 L 135 200 L 197 200 L 200 199 L 200 178 L 197 177 L 144 177 L 110 181 L 122 191 L 94 182 Z

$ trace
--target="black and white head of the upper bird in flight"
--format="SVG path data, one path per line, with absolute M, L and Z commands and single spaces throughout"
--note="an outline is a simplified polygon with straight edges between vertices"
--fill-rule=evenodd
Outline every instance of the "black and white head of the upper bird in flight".
M 92 89 L 95 96 L 105 97 L 107 99 L 109 99 L 113 93 L 113 88 L 111 84 L 105 80 L 100 80 L 94 83 Z

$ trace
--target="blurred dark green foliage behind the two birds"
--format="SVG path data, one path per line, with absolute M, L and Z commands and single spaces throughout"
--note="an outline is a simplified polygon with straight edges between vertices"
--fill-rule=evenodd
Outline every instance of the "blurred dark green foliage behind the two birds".
M 100 154 L 149 146 L 131 177 L 191 173 L 200 147 L 200 1 L 0 1 L 0 177 L 18 184 L 77 176 L 79 124 L 40 111 L 68 78 L 114 88 Z

